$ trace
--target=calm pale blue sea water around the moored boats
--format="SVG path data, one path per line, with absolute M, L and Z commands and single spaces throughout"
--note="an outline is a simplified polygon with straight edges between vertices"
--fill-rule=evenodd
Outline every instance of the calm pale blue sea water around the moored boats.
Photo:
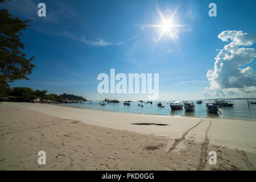
M 123 102 L 119 104 L 106 104 L 101 106 L 100 102 L 83 102 L 75 104 L 61 104 L 67 106 L 75 106 L 82 108 L 90 108 L 97 110 L 106 110 L 106 111 L 115 111 L 121 113 L 144 113 L 144 114 L 159 114 L 159 115 L 183 115 L 183 116 L 194 116 L 194 117 L 220 117 L 220 118 L 245 118 L 245 119 L 256 119 L 256 105 L 250 105 L 250 108 L 246 100 L 231 100 L 234 104 L 233 107 L 224 107 L 219 108 L 221 114 L 210 114 L 205 108 L 205 102 L 202 104 L 196 104 L 195 111 L 185 111 L 182 110 L 171 110 L 169 101 L 162 101 L 163 107 L 158 107 L 156 102 L 153 104 L 143 104 L 144 106 L 138 106 L 137 102 L 131 102 L 130 106 L 123 105 Z M 165 104 L 164 104 L 165 103 Z

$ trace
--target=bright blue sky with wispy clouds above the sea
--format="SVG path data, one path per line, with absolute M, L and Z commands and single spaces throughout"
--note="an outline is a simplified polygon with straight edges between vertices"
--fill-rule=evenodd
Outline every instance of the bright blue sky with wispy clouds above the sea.
M 46 17 L 38 16 L 40 2 L 46 3 Z M 217 5 L 217 17 L 208 15 L 211 2 Z M 177 10 L 172 23 L 184 26 L 171 28 L 175 41 L 164 32 L 156 44 L 162 28 L 146 26 L 162 24 L 156 5 L 166 19 Z M 116 73 L 126 75 L 159 73 L 159 100 L 256 97 L 255 1 L 12 0 L 0 7 L 32 20 L 22 42 L 27 56 L 35 56 L 32 63 L 36 68 L 29 76 L 31 80 L 16 81 L 14 86 L 71 93 L 88 100 L 147 98 L 146 94 L 99 94 L 98 74 L 110 75 L 110 68 L 115 68 Z M 214 70 L 214 58 L 232 42 L 218 38 L 228 30 L 236 31 L 224 35 L 234 41 L 251 41 L 237 45 L 252 52 L 246 58 L 250 61 L 241 60 L 241 64 L 233 64 L 235 58 L 224 58 L 230 69 L 223 73 L 225 69 Z M 236 77 L 238 69 L 242 75 Z M 221 77 L 228 77 L 229 82 Z M 230 84 L 234 80 L 245 83 Z

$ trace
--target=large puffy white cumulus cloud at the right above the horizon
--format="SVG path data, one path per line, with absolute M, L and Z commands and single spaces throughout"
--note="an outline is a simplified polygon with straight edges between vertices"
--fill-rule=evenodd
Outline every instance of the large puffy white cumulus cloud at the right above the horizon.
M 256 42 L 256 35 L 228 30 L 221 32 L 218 38 L 229 44 L 218 52 L 214 69 L 207 72 L 210 90 L 214 91 L 215 96 L 253 91 L 251 89 L 256 86 L 255 73 L 253 68 L 246 65 L 256 57 L 255 49 L 249 47 Z

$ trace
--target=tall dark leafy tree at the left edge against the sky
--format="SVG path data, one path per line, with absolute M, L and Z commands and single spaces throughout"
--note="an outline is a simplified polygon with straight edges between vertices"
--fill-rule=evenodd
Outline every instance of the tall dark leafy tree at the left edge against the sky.
M 26 54 L 22 52 L 24 44 L 20 42 L 21 31 L 30 26 L 28 22 L 30 20 L 14 18 L 7 9 L 0 10 L 0 97 L 9 92 L 8 82 L 28 80 L 27 76 L 35 67 L 31 63 L 34 56 L 26 59 Z

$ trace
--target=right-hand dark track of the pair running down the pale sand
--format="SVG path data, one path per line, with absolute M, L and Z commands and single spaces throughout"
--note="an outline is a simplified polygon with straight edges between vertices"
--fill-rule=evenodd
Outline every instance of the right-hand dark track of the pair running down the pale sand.
M 197 171 L 201 171 L 205 167 L 205 161 L 207 157 L 207 150 L 208 150 L 208 144 L 209 144 L 208 131 L 210 130 L 210 126 L 212 126 L 212 121 L 210 121 L 210 124 L 207 130 L 205 131 L 205 138 L 204 138 L 204 143 L 202 143 L 202 147 L 201 147 L 200 163 L 196 169 Z

